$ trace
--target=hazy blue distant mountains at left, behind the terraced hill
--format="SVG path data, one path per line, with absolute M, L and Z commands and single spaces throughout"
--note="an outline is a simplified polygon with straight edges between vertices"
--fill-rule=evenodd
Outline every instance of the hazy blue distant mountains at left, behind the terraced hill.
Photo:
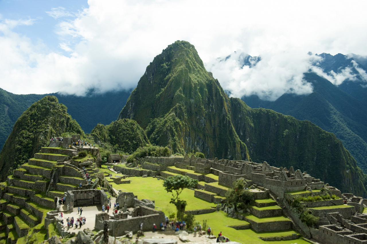
M 56 96 L 59 103 L 68 107 L 68 113 L 78 121 L 84 132 L 90 133 L 98 123 L 110 124 L 116 120 L 130 93 L 131 91 L 124 90 L 104 94 L 90 91 L 86 96 L 59 93 L 17 95 L 0 88 L 0 149 L 18 117 L 44 96 Z

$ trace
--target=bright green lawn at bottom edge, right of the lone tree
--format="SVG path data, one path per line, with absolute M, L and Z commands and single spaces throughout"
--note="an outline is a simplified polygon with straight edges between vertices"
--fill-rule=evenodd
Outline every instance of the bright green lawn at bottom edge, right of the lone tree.
M 202 225 L 202 221 L 206 219 L 207 224 L 211 227 L 212 232 L 214 235 L 218 236 L 219 232 L 226 237 L 228 237 L 231 241 L 237 241 L 242 244 L 308 244 L 305 240 L 301 238 L 297 240 L 290 240 L 290 241 L 263 241 L 260 240 L 258 237 L 271 237 L 271 236 L 291 236 L 293 233 L 297 233 L 294 230 L 280 230 L 276 232 L 255 232 L 252 229 L 246 230 L 235 230 L 228 226 L 234 225 L 246 225 L 248 222 L 239 220 L 239 219 L 232 219 L 227 216 L 223 211 L 213 212 L 210 214 L 200 214 L 195 215 L 195 220 L 199 221 Z M 298 233 L 297 233 L 298 234 Z M 215 240 L 213 241 L 215 242 Z

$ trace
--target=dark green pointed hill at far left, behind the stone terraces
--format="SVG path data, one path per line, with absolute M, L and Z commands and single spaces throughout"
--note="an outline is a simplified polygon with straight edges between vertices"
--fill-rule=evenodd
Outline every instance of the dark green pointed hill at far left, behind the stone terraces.
M 63 132 L 84 134 L 66 110 L 55 96 L 45 96 L 18 118 L 0 153 L 2 181 L 11 167 L 27 163 L 42 146 L 48 145 L 52 136 L 60 136 Z

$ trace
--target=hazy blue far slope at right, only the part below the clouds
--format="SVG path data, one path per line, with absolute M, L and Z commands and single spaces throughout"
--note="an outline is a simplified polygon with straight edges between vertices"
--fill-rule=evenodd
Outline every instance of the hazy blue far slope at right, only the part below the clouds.
M 305 73 L 312 83 L 309 95 L 283 94 L 276 101 L 262 101 L 257 96 L 243 97 L 251 108 L 267 108 L 309 120 L 323 130 L 334 133 L 367 172 L 367 107 L 364 103 L 315 73 Z

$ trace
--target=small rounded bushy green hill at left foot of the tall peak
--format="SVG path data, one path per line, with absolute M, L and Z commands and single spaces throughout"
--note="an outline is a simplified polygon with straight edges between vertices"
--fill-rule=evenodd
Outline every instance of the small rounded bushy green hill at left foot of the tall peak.
M 109 142 L 115 152 L 133 153 L 139 147 L 150 144 L 145 131 L 135 120 L 121 119 L 109 125 L 97 124 L 91 135 L 99 141 Z

